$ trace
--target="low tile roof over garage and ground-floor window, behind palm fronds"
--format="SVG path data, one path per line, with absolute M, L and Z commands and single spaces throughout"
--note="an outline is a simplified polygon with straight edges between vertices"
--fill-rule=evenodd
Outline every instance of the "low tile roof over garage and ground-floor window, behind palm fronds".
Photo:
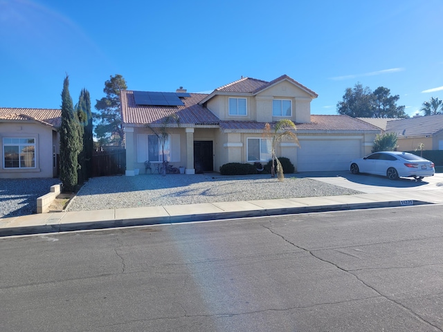
M 296 123 L 297 131 L 380 131 L 379 128 L 350 116 L 311 116 L 309 123 Z M 221 121 L 222 130 L 262 130 L 263 122 Z

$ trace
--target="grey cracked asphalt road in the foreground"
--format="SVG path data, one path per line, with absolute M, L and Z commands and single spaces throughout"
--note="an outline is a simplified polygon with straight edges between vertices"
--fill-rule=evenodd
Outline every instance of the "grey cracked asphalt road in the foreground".
M 0 331 L 442 331 L 443 206 L 0 239 Z

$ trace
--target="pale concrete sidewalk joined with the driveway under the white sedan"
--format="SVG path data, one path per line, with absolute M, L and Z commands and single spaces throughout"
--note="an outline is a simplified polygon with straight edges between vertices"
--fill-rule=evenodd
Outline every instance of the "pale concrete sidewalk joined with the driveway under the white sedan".
M 341 175 L 338 176 L 337 173 Z M 443 174 L 435 174 L 435 176 L 425 178 L 422 183 L 417 184 L 409 179 L 389 181 L 378 176 L 348 173 L 305 173 L 298 175 L 358 190 L 365 194 L 31 214 L 0 219 L 0 237 L 134 225 L 443 203 Z

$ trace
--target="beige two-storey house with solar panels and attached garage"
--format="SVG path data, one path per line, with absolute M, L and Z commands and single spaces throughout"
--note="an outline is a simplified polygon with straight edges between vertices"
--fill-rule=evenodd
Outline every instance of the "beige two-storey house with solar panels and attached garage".
M 284 156 L 299 172 L 345 170 L 353 158 L 369 154 L 381 130 L 349 116 L 311 116 L 317 94 L 287 75 L 266 82 L 242 77 L 210 94 L 121 91 L 128 176 L 144 172 L 143 163 L 161 163 L 159 140 L 147 127 L 171 122 L 165 159 L 186 174 L 219 171 L 226 163 L 267 163 L 270 142 L 263 136 L 266 122 L 292 120 L 300 148 L 281 142 L 277 156 Z

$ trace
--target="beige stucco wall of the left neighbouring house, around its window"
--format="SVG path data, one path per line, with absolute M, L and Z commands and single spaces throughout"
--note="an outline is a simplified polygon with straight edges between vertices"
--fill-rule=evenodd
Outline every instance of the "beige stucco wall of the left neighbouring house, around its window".
M 53 167 L 53 145 L 58 151 L 58 136 L 53 135 L 53 127 L 28 122 L 0 122 L 0 145 L 3 156 L 3 137 L 35 138 L 35 168 L 8 169 L 0 163 L 0 178 L 52 178 L 56 174 Z M 53 137 L 57 138 L 56 141 Z

